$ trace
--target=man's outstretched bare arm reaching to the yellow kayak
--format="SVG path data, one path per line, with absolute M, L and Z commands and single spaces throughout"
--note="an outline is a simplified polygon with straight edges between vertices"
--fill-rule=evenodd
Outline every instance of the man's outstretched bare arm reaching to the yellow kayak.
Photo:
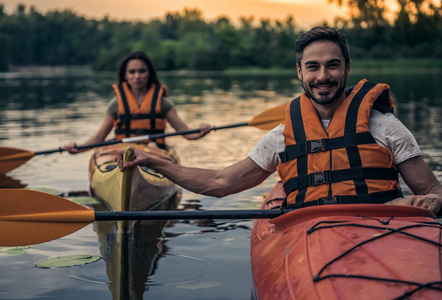
M 249 157 L 222 170 L 189 168 L 135 150 L 135 159 L 123 164 L 124 150 L 117 152 L 120 170 L 134 165 L 154 169 L 179 186 L 197 194 L 224 197 L 262 183 L 272 173 L 259 167 Z

